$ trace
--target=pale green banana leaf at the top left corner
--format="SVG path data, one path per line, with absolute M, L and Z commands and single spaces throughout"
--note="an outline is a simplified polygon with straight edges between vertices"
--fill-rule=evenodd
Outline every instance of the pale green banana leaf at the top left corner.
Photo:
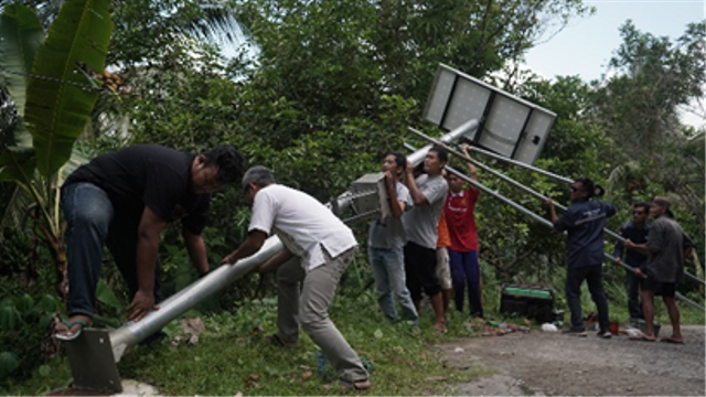
M 32 9 L 6 6 L 0 15 L 0 69 L 20 116 L 24 116 L 26 98 L 24 75 L 32 71 L 36 47 L 43 39 L 42 23 Z

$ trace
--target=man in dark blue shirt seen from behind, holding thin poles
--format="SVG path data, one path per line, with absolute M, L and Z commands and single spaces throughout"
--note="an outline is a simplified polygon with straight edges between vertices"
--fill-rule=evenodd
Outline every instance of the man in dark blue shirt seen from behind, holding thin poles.
M 603 290 L 603 227 L 606 219 L 616 215 L 616 207 L 590 201 L 593 196 L 601 196 L 603 189 L 588 178 L 575 180 L 570 189 L 571 205 L 560 218 L 556 216 L 552 200 L 547 201 L 554 228 L 568 234 L 566 302 L 571 312 L 571 328 L 565 333 L 586 336 L 581 318 L 581 283 L 586 280 L 598 309 L 598 336 L 610 337 L 608 300 Z

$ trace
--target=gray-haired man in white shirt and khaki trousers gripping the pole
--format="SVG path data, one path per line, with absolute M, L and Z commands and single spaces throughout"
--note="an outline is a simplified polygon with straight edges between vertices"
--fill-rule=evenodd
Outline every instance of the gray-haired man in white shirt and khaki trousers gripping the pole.
M 257 268 L 258 272 L 277 268 L 279 330 L 270 341 L 282 346 L 296 344 L 301 323 L 341 373 L 343 384 L 368 388 L 361 358 L 329 319 L 335 289 L 357 249 L 353 232 L 314 197 L 275 183 L 272 172 L 265 167 L 247 170 L 243 189 L 253 204 L 248 237 L 223 262 L 234 264 L 254 255 L 270 233 L 285 245 L 286 249 Z

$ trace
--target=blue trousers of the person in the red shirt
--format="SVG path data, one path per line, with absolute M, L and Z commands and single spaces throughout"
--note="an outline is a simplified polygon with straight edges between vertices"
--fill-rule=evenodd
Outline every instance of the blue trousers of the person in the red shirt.
M 478 251 L 461 253 L 449 249 L 449 259 L 456 310 L 463 312 L 463 298 L 466 298 L 466 286 L 468 285 L 468 302 L 471 315 L 483 318 L 481 271 L 478 265 Z

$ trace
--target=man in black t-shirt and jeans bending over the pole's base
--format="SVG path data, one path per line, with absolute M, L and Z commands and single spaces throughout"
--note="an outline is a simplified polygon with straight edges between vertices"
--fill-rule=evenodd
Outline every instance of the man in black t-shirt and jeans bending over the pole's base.
M 243 176 L 234 146 L 192 154 L 138 144 L 99 155 L 74 171 L 62 186 L 68 259 L 68 320 L 57 324 L 60 340 L 73 340 L 92 323 L 104 246 L 128 285 L 128 320 L 158 309 L 159 239 L 165 225 L 181 219 L 189 256 L 208 271 L 201 236 L 211 193 Z

